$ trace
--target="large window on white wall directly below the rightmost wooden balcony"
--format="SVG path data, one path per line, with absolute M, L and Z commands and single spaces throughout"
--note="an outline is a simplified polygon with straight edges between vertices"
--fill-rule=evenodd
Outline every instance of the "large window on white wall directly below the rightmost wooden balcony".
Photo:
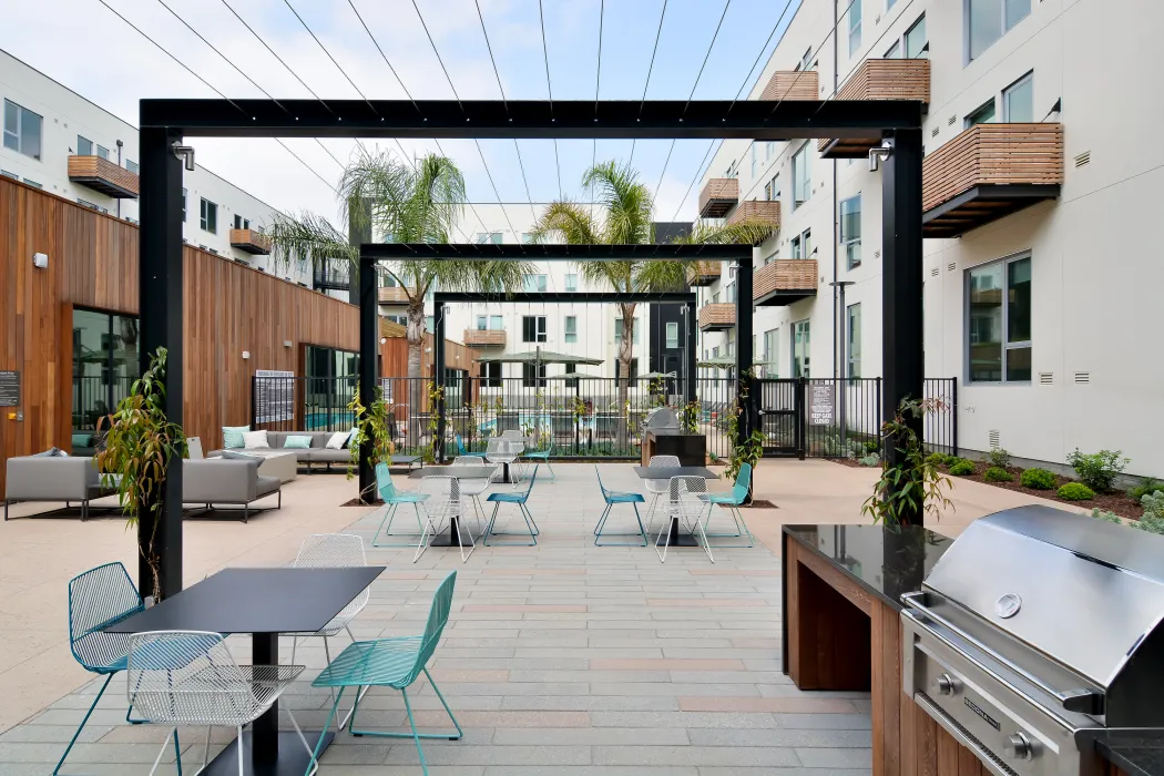
M 1030 382 L 1030 256 L 967 270 L 971 383 Z

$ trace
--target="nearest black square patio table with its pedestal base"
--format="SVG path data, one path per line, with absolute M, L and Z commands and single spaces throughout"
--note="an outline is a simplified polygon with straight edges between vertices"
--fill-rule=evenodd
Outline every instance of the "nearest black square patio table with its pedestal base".
M 279 662 L 281 633 L 319 631 L 343 611 L 386 567 L 361 565 L 335 569 L 223 569 L 191 585 L 156 606 L 106 628 L 109 633 L 147 631 L 207 631 L 210 633 L 251 634 L 251 662 L 276 665 Z M 247 774 L 284 776 L 306 773 L 311 755 L 294 731 L 279 731 L 276 700 L 251 725 L 244 757 Z M 319 731 L 304 731 L 308 743 L 319 740 Z M 326 733 L 326 749 L 334 733 Z M 211 762 L 203 776 L 239 773 L 235 739 Z M 322 752 L 322 749 L 320 749 Z

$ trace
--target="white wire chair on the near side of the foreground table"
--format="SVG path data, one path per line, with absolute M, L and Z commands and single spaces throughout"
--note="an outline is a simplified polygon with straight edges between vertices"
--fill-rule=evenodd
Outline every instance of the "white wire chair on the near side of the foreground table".
M 239 665 L 219 633 L 152 631 L 130 636 L 126 665 L 129 703 L 147 721 L 170 726 L 150 775 L 180 725 L 206 726 L 204 769 L 210 761 L 211 728 L 236 728 L 239 774 L 243 774 L 242 727 L 263 716 L 303 670 L 303 665 Z M 294 714 L 285 711 L 311 754 Z M 182 773 L 180 753 L 177 757 Z M 318 766 L 310 774 L 315 770 Z

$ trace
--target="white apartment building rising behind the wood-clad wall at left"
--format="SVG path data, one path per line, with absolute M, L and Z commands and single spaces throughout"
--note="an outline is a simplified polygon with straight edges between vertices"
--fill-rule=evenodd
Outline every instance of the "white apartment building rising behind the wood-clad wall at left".
M 0 175 L 137 222 L 137 128 L 0 51 Z M 183 240 L 223 258 L 310 284 L 310 268 L 275 266 L 263 230 L 275 208 L 210 170 L 184 173 Z

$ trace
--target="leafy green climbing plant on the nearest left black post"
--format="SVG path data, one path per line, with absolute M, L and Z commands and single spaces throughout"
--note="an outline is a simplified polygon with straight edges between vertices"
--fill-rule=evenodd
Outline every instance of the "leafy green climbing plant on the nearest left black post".
M 118 500 L 127 525 L 149 520 L 149 534 L 137 536 L 137 551 L 149 567 L 154 600 L 165 597 L 161 579 L 161 557 L 154 547 L 158 514 L 165 492 L 165 475 L 173 456 L 187 455 L 186 435 L 165 415 L 166 349 L 150 356 L 149 369 L 134 380 L 129 396 L 118 403 L 112 415 L 105 449 L 95 464 L 102 477 L 118 489 Z

